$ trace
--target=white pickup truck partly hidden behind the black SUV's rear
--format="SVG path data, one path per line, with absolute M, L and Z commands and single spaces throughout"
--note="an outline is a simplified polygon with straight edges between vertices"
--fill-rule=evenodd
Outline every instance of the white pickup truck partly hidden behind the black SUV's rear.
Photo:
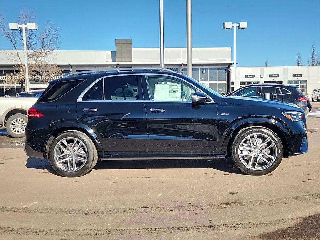
M 0 126 L 4 126 L 14 138 L 24 137 L 28 109 L 37 100 L 36 97 L 0 98 Z

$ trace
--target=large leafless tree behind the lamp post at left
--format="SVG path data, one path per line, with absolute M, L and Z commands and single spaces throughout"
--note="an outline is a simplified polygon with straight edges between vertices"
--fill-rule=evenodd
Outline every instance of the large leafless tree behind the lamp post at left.
M 21 11 L 17 22 L 19 24 L 27 24 L 35 21 L 33 12 Z M 14 49 L 11 52 L 4 52 L 9 59 L 17 60 L 18 64 L 14 66 L 14 73 L 7 74 L 4 80 L 6 88 L 14 87 L 14 84 L 19 84 L 26 79 L 26 69 L 24 65 L 23 55 L 23 33 L 20 31 L 11 31 L 7 28 L 9 24 L 5 23 L 3 13 L 0 13 L 0 30 L 2 35 L 6 37 Z M 50 60 L 54 58 L 55 50 L 58 50 L 60 44 L 60 29 L 54 28 L 52 23 L 46 23 L 42 32 L 30 31 L 26 29 L 26 42 L 28 50 L 28 70 L 29 76 L 37 81 L 48 82 L 50 77 L 44 78 L 41 76 L 50 74 L 50 76 L 61 75 L 61 68 L 50 64 Z M 40 82 L 40 81 L 39 81 Z M 9 84 L 9 85 L 8 85 Z

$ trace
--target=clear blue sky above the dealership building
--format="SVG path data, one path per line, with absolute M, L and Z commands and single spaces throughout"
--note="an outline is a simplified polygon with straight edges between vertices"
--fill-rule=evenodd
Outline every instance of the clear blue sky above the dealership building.
M 61 50 L 114 50 L 115 38 L 159 47 L 158 0 L 1 1 L 7 23 L 21 9 L 36 14 L 39 30 L 46 21 L 60 27 Z M 233 32 L 222 23 L 247 21 L 247 29 L 237 30 L 238 66 L 264 66 L 265 60 L 269 66 L 295 65 L 298 51 L 307 65 L 313 43 L 320 54 L 319 10 L 319 0 L 193 0 L 192 45 L 233 47 Z M 186 47 L 185 0 L 164 0 L 164 44 Z M 9 48 L 0 36 L 0 49 Z

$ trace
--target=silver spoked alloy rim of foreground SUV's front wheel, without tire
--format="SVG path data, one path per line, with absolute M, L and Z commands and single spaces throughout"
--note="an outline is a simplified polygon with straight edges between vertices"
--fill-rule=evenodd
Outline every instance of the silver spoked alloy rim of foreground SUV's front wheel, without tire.
M 263 133 L 248 135 L 238 148 L 238 155 L 244 166 L 256 171 L 270 167 L 276 161 L 277 154 L 275 141 Z

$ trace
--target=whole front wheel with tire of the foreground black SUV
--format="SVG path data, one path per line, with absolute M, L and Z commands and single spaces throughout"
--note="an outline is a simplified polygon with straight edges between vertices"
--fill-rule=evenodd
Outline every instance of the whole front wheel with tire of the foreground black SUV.
M 249 138 L 251 139 L 251 144 Z M 255 139 L 258 140 L 258 146 L 256 145 Z M 263 142 L 265 142 L 265 144 L 263 144 Z M 236 135 L 231 147 L 231 157 L 242 172 L 249 175 L 265 175 L 274 171 L 281 163 L 283 145 L 276 133 L 269 129 L 259 126 L 248 127 Z M 259 161 L 257 165 L 258 158 Z M 252 162 L 250 164 L 251 159 Z

